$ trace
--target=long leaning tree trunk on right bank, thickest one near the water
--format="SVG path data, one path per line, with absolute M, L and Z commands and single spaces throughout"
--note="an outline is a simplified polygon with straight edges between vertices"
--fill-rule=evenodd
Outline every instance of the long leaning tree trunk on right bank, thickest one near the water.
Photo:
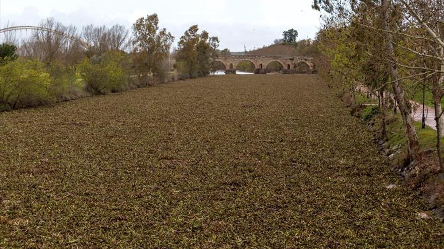
M 381 7 L 383 12 L 383 23 L 384 23 L 384 29 L 389 31 L 390 29 L 390 23 L 389 18 L 390 15 L 388 13 L 388 0 L 382 0 Z M 395 53 L 395 49 L 393 47 L 393 36 L 390 32 L 384 32 L 385 36 L 385 42 L 387 43 L 387 55 L 393 56 Z M 398 103 L 399 110 L 403 119 L 404 128 L 405 128 L 405 135 L 407 138 L 407 153 L 408 153 L 408 159 L 410 161 L 414 161 L 418 154 L 419 154 L 419 143 L 418 143 L 418 137 L 416 135 L 415 126 L 413 125 L 413 118 L 411 115 L 411 110 L 408 105 L 408 101 L 404 97 L 404 91 L 402 89 L 402 86 L 400 85 L 398 79 L 398 68 L 396 63 L 394 63 L 395 58 L 392 57 L 392 61 L 390 62 L 389 66 L 389 72 L 392 77 L 392 80 L 394 83 L 392 84 L 393 92 L 395 94 L 395 100 Z

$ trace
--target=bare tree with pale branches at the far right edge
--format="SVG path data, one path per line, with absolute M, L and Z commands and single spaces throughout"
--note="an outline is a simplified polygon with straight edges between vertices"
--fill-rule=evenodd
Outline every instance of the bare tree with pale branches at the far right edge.
M 443 171 L 441 137 L 444 136 L 444 115 L 441 101 L 444 96 L 444 1 L 400 0 L 400 3 L 404 7 L 407 25 L 411 27 L 401 34 L 409 41 L 401 47 L 411 53 L 415 60 L 399 66 L 420 74 L 418 82 L 430 82 L 437 130 L 436 146 L 440 169 Z

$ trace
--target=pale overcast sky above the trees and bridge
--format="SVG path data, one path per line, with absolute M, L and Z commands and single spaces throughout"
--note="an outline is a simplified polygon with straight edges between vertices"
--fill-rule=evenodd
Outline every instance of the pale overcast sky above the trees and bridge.
M 167 28 L 176 42 L 188 27 L 198 24 L 220 39 L 220 48 L 232 51 L 262 47 L 282 37 L 290 28 L 299 38 L 314 38 L 319 13 L 312 0 L 0 0 L 0 21 L 37 25 L 53 17 L 69 25 L 121 24 L 131 28 L 137 18 L 157 13 L 160 27 Z

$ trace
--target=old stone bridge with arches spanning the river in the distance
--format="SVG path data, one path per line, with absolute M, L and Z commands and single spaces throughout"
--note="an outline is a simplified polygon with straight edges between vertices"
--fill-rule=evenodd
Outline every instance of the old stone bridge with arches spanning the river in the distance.
M 313 57 L 279 56 L 279 55 L 223 55 L 219 54 L 214 62 L 221 62 L 226 73 L 236 73 L 240 62 L 249 61 L 254 65 L 255 73 L 267 73 L 267 65 L 278 62 L 282 65 L 283 73 L 316 73 Z

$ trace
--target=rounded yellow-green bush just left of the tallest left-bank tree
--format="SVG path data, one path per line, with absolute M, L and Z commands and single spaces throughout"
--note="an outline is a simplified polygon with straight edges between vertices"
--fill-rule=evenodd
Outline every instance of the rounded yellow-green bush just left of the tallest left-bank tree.
M 85 59 L 79 68 L 86 91 L 96 95 L 119 92 L 127 88 L 129 67 L 126 68 L 123 61 L 123 55 L 116 52 Z

